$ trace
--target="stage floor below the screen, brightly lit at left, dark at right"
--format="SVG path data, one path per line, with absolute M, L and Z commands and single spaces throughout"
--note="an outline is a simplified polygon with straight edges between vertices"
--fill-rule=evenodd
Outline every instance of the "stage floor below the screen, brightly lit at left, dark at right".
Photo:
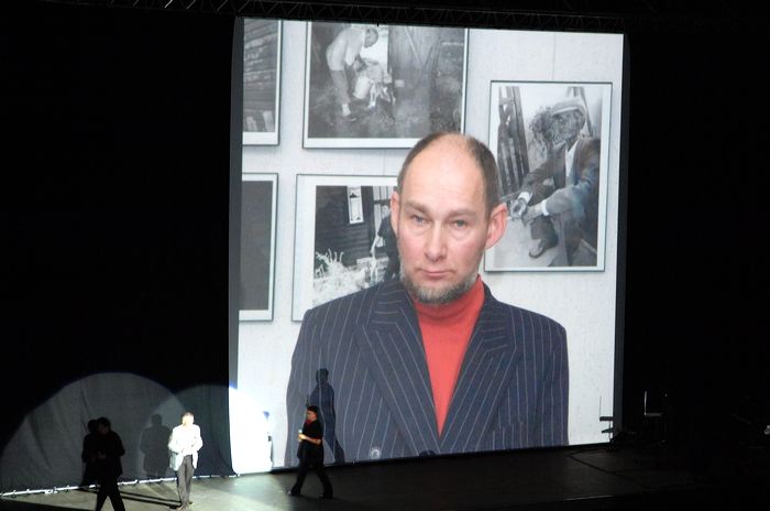
M 754 509 L 770 504 L 763 458 L 715 460 L 693 471 L 662 448 L 607 445 L 465 455 L 329 467 L 334 500 L 318 499 L 309 474 L 302 497 L 286 489 L 295 471 L 204 477 L 193 483 L 193 511 L 244 510 L 647 510 L 653 505 Z M 128 511 L 176 508 L 173 480 L 121 485 Z M 92 491 L 28 493 L 0 499 L 3 511 L 95 508 Z M 108 503 L 106 510 L 111 509 Z M 765 509 L 768 509 L 767 505 Z

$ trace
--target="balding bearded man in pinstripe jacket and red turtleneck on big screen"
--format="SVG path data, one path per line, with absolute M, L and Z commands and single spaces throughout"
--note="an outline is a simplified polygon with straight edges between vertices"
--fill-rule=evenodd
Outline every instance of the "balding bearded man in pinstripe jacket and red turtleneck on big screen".
M 507 221 L 490 150 L 460 133 L 426 137 L 391 209 L 400 279 L 306 313 L 288 424 L 315 404 L 323 367 L 348 461 L 568 444 L 564 328 L 497 302 L 479 275 Z

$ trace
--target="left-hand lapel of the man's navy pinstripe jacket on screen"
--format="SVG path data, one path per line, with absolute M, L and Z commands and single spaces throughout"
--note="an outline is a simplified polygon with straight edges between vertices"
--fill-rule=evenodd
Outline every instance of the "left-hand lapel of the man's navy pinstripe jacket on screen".
M 400 283 L 384 285 L 367 324 L 358 329 L 359 348 L 403 438 L 416 454 L 438 453 L 430 377 L 414 305 Z

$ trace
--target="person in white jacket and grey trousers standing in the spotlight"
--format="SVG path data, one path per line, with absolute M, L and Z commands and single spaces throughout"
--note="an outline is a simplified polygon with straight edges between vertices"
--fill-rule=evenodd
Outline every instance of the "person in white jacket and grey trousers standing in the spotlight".
M 169 465 L 176 472 L 176 488 L 179 492 L 179 509 L 186 510 L 190 501 L 190 485 L 198 467 L 198 450 L 204 446 L 200 438 L 200 427 L 194 424 L 195 417 L 190 412 L 182 415 L 182 424 L 174 427 L 168 438 Z

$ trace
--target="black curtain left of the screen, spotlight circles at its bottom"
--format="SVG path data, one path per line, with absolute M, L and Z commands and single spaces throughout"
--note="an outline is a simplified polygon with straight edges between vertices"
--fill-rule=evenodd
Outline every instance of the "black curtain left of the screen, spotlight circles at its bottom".
M 0 23 L 0 491 L 78 483 L 102 415 L 128 479 L 146 474 L 144 430 L 184 410 L 198 474 L 232 474 L 234 19 L 16 2 Z

